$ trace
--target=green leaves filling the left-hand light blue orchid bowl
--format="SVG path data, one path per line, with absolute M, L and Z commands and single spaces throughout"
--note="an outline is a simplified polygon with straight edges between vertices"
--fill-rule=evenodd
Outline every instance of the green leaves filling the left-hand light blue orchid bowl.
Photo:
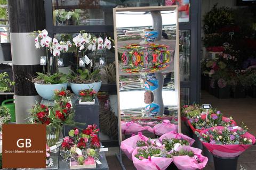
M 38 77 L 36 77 L 33 82 L 38 84 L 60 84 L 66 83 L 68 81 L 66 74 L 54 73 L 51 74 L 43 74 L 37 72 Z

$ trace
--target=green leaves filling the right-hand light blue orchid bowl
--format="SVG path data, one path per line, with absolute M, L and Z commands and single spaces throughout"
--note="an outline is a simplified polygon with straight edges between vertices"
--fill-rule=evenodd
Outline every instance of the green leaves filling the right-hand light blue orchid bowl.
M 77 84 L 94 83 L 94 82 L 100 81 L 100 70 L 96 69 L 93 72 L 90 72 L 88 69 L 85 69 L 85 70 L 78 69 L 77 73 L 72 71 L 72 73 L 69 74 L 68 77 L 72 83 L 77 83 Z

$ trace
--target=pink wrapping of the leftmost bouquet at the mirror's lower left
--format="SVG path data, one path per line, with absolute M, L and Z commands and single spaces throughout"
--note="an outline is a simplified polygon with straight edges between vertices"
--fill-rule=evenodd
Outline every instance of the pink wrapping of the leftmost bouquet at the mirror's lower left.
M 145 137 L 145 135 L 142 135 L 142 133 L 138 133 L 138 135 L 134 135 L 131 138 L 125 139 L 121 142 L 120 148 L 123 150 L 124 154 L 132 160 L 132 152 L 137 147 L 137 141 L 147 141 L 148 138 Z

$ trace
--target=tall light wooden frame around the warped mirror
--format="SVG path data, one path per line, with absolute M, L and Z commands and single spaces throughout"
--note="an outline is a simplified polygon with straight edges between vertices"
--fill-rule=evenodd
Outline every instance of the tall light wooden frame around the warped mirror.
M 181 133 L 181 119 L 180 119 L 180 76 L 179 76 L 179 21 L 178 21 L 178 5 L 172 6 L 146 6 L 146 7 L 124 7 L 113 8 L 113 20 L 114 20 L 114 37 L 115 37 L 115 58 L 116 58 L 116 84 L 117 84 L 117 101 L 118 101 L 118 128 L 119 128 L 119 144 L 122 141 L 122 129 L 121 129 L 121 109 L 119 101 L 119 61 L 118 61 L 118 43 L 117 43 L 117 30 L 116 30 L 116 12 L 124 11 L 167 11 L 172 10 L 176 12 L 176 45 L 174 54 L 174 83 L 175 91 L 177 90 L 177 109 L 178 109 L 178 132 Z

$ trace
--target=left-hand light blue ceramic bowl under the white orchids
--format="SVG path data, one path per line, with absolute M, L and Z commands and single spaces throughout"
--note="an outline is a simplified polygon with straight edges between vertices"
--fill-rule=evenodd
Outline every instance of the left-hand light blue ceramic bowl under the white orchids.
M 62 88 L 67 90 L 68 83 L 62 84 L 37 84 L 35 83 L 35 88 L 39 96 L 46 100 L 52 100 L 54 96 L 54 90 L 61 90 Z

